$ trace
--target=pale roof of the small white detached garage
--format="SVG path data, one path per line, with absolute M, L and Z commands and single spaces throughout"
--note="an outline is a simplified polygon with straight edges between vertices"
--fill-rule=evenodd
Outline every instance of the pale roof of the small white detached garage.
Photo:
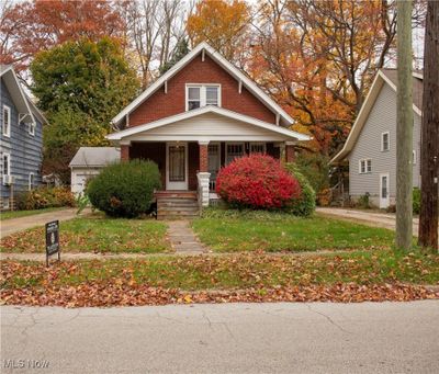
M 69 167 L 104 167 L 120 159 L 121 150 L 115 147 L 81 147 L 71 159 Z

